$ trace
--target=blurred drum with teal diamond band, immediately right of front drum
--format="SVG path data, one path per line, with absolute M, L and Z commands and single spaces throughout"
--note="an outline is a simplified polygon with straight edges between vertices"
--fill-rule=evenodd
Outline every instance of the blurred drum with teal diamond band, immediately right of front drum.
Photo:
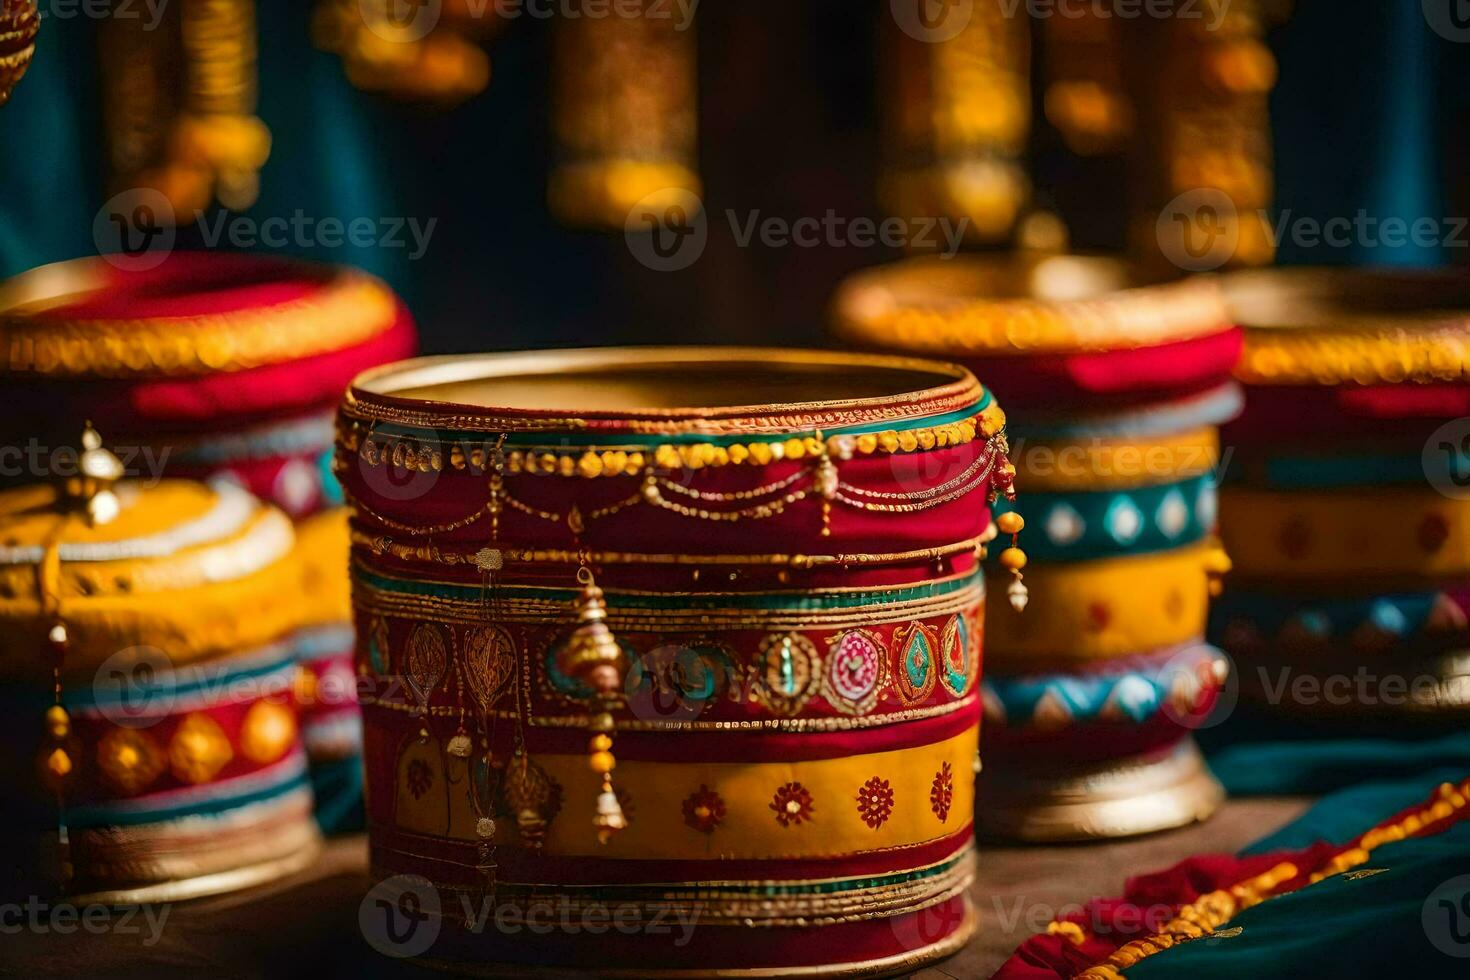
M 1138 284 L 1082 256 L 919 259 L 858 273 L 836 326 L 944 354 L 1011 411 L 1026 522 L 1025 613 L 997 601 L 982 685 L 980 829 L 1023 839 L 1144 833 L 1220 801 L 1191 732 L 1226 664 L 1205 645 L 1216 426 L 1239 408 L 1239 332 L 1219 285 Z

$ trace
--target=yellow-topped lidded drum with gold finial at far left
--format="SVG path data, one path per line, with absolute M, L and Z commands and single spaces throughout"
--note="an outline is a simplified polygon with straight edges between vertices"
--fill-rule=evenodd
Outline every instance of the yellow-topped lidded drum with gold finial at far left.
M 78 476 L 0 492 L 19 893 L 169 902 L 306 867 L 290 519 L 232 485 L 115 482 L 91 430 L 75 451 Z

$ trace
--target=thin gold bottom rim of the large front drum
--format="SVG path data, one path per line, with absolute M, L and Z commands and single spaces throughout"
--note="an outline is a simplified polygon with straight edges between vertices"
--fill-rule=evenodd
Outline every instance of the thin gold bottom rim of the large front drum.
M 960 927 L 936 943 L 906 954 L 894 954 L 881 959 L 864 962 L 841 962 L 820 967 L 748 967 L 735 970 L 700 968 L 700 970 L 570 970 L 551 967 L 501 967 L 494 964 L 454 962 L 447 959 L 415 959 L 417 965 L 457 973 L 475 977 L 606 977 L 607 980 L 648 977 L 648 980 L 710 980 L 714 977 L 734 980 L 761 980 L 767 977 L 795 977 L 798 980 L 857 980 L 858 977 L 876 980 L 879 977 L 901 977 L 932 962 L 944 959 L 958 952 L 975 936 L 979 917 L 975 914 L 975 902 L 969 895 L 963 895 L 964 920 Z

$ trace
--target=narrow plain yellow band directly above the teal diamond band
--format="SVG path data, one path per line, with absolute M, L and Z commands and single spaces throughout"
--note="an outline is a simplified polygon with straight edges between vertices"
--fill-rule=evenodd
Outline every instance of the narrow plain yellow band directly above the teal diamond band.
M 1207 426 L 1155 439 L 1011 439 L 1010 455 L 1025 492 L 1129 489 L 1208 473 L 1220 435 Z

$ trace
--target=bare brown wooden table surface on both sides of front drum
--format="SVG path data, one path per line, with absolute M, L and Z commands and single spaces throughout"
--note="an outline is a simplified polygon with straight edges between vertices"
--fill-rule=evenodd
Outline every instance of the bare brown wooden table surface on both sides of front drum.
M 1111 843 L 988 845 L 975 884 L 979 934 L 961 952 L 916 974 L 925 980 L 989 976 L 1055 909 L 1114 895 L 1129 874 L 1191 854 L 1235 851 L 1295 818 L 1299 798 L 1229 802 L 1205 824 Z M 375 977 L 442 976 L 387 959 L 363 940 L 357 909 L 372 882 L 363 836 L 332 840 L 307 873 L 240 895 L 168 908 L 162 929 L 141 915 L 103 932 L 68 934 L 10 927 L 0 915 L 4 977 Z M 650 964 L 653 965 L 653 964 Z

